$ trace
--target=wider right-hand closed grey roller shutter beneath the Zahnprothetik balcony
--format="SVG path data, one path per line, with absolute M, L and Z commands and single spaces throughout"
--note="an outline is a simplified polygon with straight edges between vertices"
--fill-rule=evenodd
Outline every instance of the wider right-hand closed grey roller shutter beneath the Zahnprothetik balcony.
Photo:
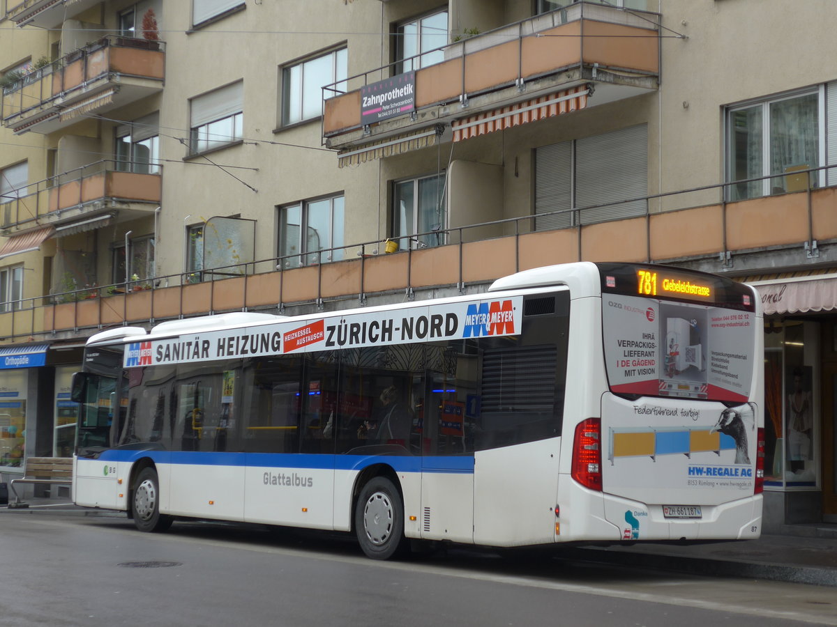
M 582 224 L 644 216 L 648 194 L 648 125 L 630 126 L 576 142 L 576 206 L 613 206 L 581 214 Z

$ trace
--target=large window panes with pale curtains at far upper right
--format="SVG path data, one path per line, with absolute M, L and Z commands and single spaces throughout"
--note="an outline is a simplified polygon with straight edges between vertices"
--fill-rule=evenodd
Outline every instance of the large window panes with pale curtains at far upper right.
M 756 198 L 819 186 L 824 150 L 823 89 L 747 104 L 727 111 L 727 181 L 730 200 Z M 796 174 L 794 174 L 796 172 Z M 747 179 L 773 176 L 760 181 Z

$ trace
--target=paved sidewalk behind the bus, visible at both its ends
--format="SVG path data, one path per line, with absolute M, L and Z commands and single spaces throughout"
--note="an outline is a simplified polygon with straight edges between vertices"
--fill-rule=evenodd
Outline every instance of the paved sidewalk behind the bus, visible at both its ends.
M 123 512 L 79 507 L 57 498 L 30 498 L 27 502 L 29 507 L 25 509 L 0 506 L 0 517 L 125 516 Z M 781 531 L 744 542 L 567 547 L 562 548 L 562 556 L 663 570 L 676 568 L 678 572 L 702 575 L 837 587 L 837 524 L 785 525 Z

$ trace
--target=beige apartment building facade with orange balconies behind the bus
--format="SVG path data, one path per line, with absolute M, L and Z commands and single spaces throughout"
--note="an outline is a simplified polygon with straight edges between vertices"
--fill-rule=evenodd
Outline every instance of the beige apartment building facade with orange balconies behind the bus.
M 766 523 L 837 521 L 829 0 L 0 8 L 0 472 L 100 329 L 652 261 L 762 290 Z

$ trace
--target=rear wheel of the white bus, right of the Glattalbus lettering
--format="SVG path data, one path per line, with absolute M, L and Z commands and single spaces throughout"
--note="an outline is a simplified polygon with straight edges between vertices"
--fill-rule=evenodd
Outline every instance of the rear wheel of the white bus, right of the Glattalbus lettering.
M 363 486 L 355 506 L 355 533 L 372 559 L 393 558 L 406 548 L 401 494 L 387 477 L 373 477 Z

